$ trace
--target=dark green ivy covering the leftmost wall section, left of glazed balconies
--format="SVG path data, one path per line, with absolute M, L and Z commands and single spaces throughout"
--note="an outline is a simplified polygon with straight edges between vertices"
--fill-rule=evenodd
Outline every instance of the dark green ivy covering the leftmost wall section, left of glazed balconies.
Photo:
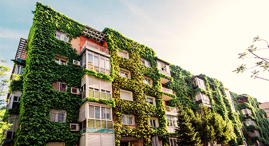
M 33 25 L 28 36 L 29 48 L 23 73 L 20 124 L 16 131 L 16 146 L 46 146 L 50 142 L 64 142 L 66 146 L 78 144 L 80 132 L 70 131 L 70 123 L 78 123 L 81 99 L 70 93 L 80 88 L 81 70 L 72 65 L 80 60 L 70 43 L 55 37 L 56 30 L 78 37 L 84 25 L 45 6 L 36 4 Z M 55 54 L 68 57 L 67 65 L 57 64 Z M 65 82 L 67 91 L 56 91 L 53 82 Z M 66 110 L 65 123 L 51 122 L 50 110 Z

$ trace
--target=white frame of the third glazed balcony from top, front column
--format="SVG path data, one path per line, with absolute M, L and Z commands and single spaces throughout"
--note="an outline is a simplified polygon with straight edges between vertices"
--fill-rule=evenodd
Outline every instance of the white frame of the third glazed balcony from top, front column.
M 90 106 L 93 107 L 93 117 L 90 115 L 90 113 L 91 113 Z M 99 108 L 99 115 L 97 115 L 97 116 L 99 116 L 99 119 L 96 118 L 96 113 L 97 112 L 95 111 L 95 107 Z M 102 119 L 102 108 L 105 109 L 105 116 L 104 116 L 105 118 L 104 119 Z M 107 111 L 108 110 L 110 111 L 110 119 L 107 118 Z M 100 122 L 99 123 L 100 128 L 102 128 L 102 121 L 106 121 L 106 128 L 108 129 L 108 121 L 109 121 L 109 122 L 112 122 L 112 128 L 109 128 L 109 129 L 113 129 L 112 108 L 104 107 L 104 106 L 101 106 L 101 105 L 89 105 L 89 119 L 87 119 L 87 120 L 94 120 L 94 127 L 89 127 L 88 121 L 87 121 L 87 123 L 86 123 L 87 128 L 99 128 L 99 127 L 96 127 L 96 122 Z

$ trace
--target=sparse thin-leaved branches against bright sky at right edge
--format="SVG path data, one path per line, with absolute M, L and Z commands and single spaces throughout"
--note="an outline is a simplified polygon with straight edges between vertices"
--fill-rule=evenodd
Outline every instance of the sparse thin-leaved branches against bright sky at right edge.
M 260 70 L 256 71 L 256 69 L 257 69 L 256 67 L 260 67 L 260 69 L 262 68 L 263 71 L 269 71 L 269 61 L 267 61 L 267 60 L 269 60 L 269 59 L 268 59 L 268 58 L 264 58 L 264 57 L 260 57 L 260 56 L 257 55 L 256 53 L 254 54 L 254 51 L 259 51 L 259 50 L 269 49 L 269 44 L 268 44 L 268 42 L 267 42 L 266 40 L 264 40 L 264 39 L 261 39 L 259 36 L 254 37 L 252 42 L 254 43 L 254 42 L 256 42 L 256 41 L 261 41 L 261 40 L 263 40 L 263 41 L 265 41 L 265 42 L 267 43 L 267 47 L 268 47 L 268 48 L 257 49 L 257 47 L 254 48 L 254 45 L 251 45 L 251 46 L 248 47 L 248 49 L 246 49 L 247 52 L 238 54 L 238 55 L 239 55 L 239 57 L 238 57 L 239 59 L 240 59 L 240 58 L 244 59 L 245 57 L 246 57 L 246 58 L 256 58 L 256 59 L 259 59 L 259 62 L 256 62 L 255 65 L 252 66 L 252 67 L 250 67 L 250 68 L 247 68 L 247 67 L 246 67 L 247 64 L 242 64 L 241 66 L 239 66 L 238 68 L 236 68 L 236 70 L 234 70 L 234 71 L 232 71 L 232 72 L 243 73 L 243 72 L 246 71 L 247 69 L 254 69 L 253 72 L 251 72 L 251 73 L 253 73 L 253 74 L 251 75 L 251 77 L 254 76 L 254 79 L 256 79 L 256 78 L 260 78 L 260 79 L 264 79 L 264 80 L 268 80 L 268 81 L 269 81 L 269 79 L 265 79 L 265 78 L 262 78 L 262 77 L 259 77 L 259 76 L 258 76 Z M 251 55 L 253 55 L 253 56 L 249 56 L 248 54 L 251 54 Z M 247 55 L 248 55 L 248 56 L 247 56 Z

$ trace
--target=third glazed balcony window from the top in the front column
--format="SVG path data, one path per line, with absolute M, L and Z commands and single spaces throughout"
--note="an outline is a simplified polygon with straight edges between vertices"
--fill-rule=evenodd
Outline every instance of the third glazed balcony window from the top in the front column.
M 83 124 L 83 122 L 82 122 Z M 86 124 L 86 122 L 85 122 Z M 102 106 L 89 106 L 88 128 L 113 128 L 112 109 Z M 85 126 L 86 127 L 86 126 Z

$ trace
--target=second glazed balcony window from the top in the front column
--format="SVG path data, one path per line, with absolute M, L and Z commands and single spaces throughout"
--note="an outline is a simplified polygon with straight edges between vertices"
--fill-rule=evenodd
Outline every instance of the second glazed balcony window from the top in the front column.
M 112 91 L 111 91 L 111 82 L 101 80 L 95 77 L 89 77 L 89 97 L 94 97 L 97 99 L 107 99 L 111 100 Z

